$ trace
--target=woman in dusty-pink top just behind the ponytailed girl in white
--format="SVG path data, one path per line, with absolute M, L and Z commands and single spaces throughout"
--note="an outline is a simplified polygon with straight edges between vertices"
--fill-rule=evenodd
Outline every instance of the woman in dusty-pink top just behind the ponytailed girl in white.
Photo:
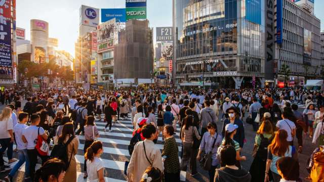
M 86 122 L 86 126 L 85 126 L 85 146 L 83 151 L 86 153 L 88 147 L 90 147 L 92 145 L 92 143 L 96 140 L 96 138 L 99 137 L 99 131 L 97 129 L 97 126 L 94 123 L 95 121 L 95 117 L 93 116 L 89 116 L 87 118 L 87 122 Z M 85 159 L 85 163 L 87 164 L 87 160 Z M 87 173 L 87 165 L 84 165 L 84 178 L 88 177 L 88 173 Z

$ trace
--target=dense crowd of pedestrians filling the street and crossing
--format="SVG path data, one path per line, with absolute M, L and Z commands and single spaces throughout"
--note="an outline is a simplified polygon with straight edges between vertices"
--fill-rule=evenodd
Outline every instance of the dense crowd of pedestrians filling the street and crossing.
M 128 118 L 133 137 L 125 174 L 134 182 L 180 181 L 181 171 L 195 177 L 198 165 L 216 182 L 301 181 L 298 153 L 303 152 L 303 137 L 324 145 L 324 94 L 299 89 L 9 90 L 0 94 L 0 102 L 3 97 L 0 170 L 10 171 L 7 181 L 14 181 L 24 163 L 25 180 L 76 181 L 80 135 L 85 139 L 84 178 L 105 181 L 109 174 L 100 158 L 104 148 L 96 122 L 106 122 L 104 132 L 111 132 L 117 120 Z M 305 103 L 303 112 L 298 103 Z M 247 124 L 256 132 L 253 149 L 244 147 Z M 163 144 L 162 151 L 156 143 Z M 253 151 L 249 170 L 241 165 L 247 160 L 243 150 Z M 324 157 L 319 156 L 324 156 L 320 147 L 307 164 L 309 179 L 324 175 L 316 170 L 324 168 Z M 42 166 L 36 170 L 38 157 Z

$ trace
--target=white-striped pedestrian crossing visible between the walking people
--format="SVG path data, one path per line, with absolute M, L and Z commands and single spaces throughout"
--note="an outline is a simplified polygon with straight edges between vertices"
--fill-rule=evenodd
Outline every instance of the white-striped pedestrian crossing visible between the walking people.
M 107 172 L 107 174 L 105 175 L 106 181 L 127 181 L 127 176 L 124 174 L 124 168 L 125 161 L 129 161 L 131 158 L 128 152 L 128 145 L 131 141 L 133 133 L 133 125 L 130 119 L 118 120 L 111 127 L 111 132 L 104 132 L 106 123 L 102 121 L 96 121 L 95 123 L 99 131 L 99 138 L 97 138 L 97 140 L 103 143 L 103 154 L 101 155 L 101 159 L 103 160 L 104 167 Z M 180 128 L 178 127 L 177 130 L 179 131 Z M 179 138 L 179 132 L 177 132 L 174 136 L 178 145 L 179 160 L 181 161 L 181 140 Z M 83 178 L 83 168 L 85 165 L 85 157 L 83 151 L 85 144 L 85 136 L 78 135 L 78 139 L 79 146 L 75 155 L 75 160 L 77 163 L 77 181 L 86 181 L 86 179 Z M 155 144 L 155 146 L 162 152 L 164 145 L 161 141 L 162 138 L 160 134 L 157 144 Z M 11 164 L 11 166 L 13 167 L 15 163 Z M 40 167 L 39 164 L 37 165 L 38 167 Z M 24 169 L 24 166 L 21 166 L 19 171 L 24 172 Z M 186 180 L 185 171 L 181 171 L 180 179 L 181 181 Z

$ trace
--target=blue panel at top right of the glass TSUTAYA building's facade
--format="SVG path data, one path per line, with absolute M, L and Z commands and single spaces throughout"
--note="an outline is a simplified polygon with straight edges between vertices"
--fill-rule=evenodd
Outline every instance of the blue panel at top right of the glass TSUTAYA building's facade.
M 246 0 L 245 19 L 261 25 L 262 0 Z

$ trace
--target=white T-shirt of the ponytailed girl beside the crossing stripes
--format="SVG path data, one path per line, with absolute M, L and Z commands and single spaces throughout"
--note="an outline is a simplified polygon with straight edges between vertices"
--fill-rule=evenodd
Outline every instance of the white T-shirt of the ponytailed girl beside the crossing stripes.
M 98 157 L 94 157 L 92 162 L 90 160 L 87 160 L 88 181 L 97 182 L 99 179 L 98 171 L 103 167 L 103 162 Z

